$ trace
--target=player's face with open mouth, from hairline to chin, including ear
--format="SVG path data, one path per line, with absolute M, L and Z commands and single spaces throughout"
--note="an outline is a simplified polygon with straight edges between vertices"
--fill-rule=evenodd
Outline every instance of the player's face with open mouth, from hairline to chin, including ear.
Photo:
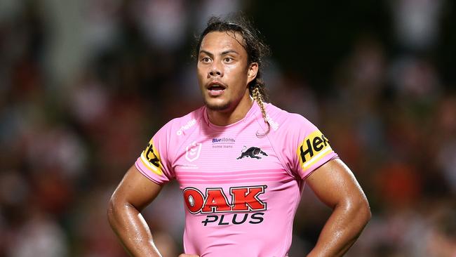
M 239 42 L 243 42 L 241 35 L 233 32 L 210 32 L 201 41 L 198 81 L 210 110 L 234 110 L 241 101 L 250 100 L 247 85 L 258 66 L 248 64 L 247 52 Z

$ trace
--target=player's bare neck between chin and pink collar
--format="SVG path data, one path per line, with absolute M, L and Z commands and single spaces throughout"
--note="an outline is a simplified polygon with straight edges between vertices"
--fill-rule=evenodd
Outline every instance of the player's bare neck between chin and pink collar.
M 244 97 L 233 110 L 210 110 L 206 109 L 208 112 L 208 118 L 210 123 L 217 126 L 227 126 L 229 124 L 234 124 L 237 121 L 240 121 L 246 117 L 247 112 L 252 107 L 253 100 L 250 98 L 250 95 L 247 93 L 247 97 Z

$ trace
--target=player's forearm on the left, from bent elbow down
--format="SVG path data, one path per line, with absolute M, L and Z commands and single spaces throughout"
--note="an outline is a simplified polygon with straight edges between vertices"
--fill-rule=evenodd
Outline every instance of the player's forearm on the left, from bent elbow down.
M 130 204 L 110 204 L 108 220 L 130 256 L 161 257 L 145 219 Z

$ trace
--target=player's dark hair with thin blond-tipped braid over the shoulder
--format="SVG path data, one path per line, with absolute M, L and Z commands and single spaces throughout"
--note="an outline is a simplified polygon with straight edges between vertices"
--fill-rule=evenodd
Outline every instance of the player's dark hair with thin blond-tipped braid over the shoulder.
M 228 15 L 227 18 L 224 19 L 212 17 L 208 20 L 206 29 L 204 29 L 203 32 L 196 37 L 196 47 L 192 53 L 195 60 L 198 60 L 201 41 L 203 41 L 206 34 L 210 32 L 235 32 L 236 34 L 240 34 L 242 39 L 236 40 L 239 44 L 241 44 L 241 46 L 243 46 L 244 49 L 246 49 L 248 64 L 257 62 L 257 76 L 248 84 L 248 91 L 260 106 L 264 121 L 268 125 L 267 132 L 264 134 L 257 133 L 257 136 L 265 136 L 269 132 L 269 122 L 267 121 L 263 100 L 269 100 L 269 96 L 267 95 L 266 85 L 262 79 L 262 73 L 265 65 L 264 59 L 269 55 L 269 46 L 264 44 L 264 41 L 260 39 L 260 32 L 253 27 L 252 22 L 250 22 L 250 20 L 248 20 L 242 13 Z

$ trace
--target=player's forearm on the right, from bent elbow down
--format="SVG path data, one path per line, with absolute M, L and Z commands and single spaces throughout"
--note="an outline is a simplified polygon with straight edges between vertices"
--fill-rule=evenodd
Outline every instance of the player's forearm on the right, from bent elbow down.
M 367 204 L 336 206 L 308 257 L 344 255 L 361 235 L 369 219 Z

